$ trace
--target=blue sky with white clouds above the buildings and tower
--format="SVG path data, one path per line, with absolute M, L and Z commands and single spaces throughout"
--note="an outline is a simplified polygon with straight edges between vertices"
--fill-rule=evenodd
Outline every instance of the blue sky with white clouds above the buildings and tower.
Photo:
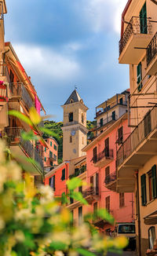
M 127 0 L 5 0 L 5 41 L 12 43 L 46 114 L 63 120 L 75 86 L 93 120 L 98 104 L 129 88 L 119 64 Z

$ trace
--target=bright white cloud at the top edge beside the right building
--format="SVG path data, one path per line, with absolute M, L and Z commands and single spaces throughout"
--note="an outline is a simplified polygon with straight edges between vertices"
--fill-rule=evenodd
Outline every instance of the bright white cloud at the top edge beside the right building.
M 88 0 L 84 5 L 86 19 L 96 32 L 114 30 L 119 33 L 126 2 L 127 0 Z

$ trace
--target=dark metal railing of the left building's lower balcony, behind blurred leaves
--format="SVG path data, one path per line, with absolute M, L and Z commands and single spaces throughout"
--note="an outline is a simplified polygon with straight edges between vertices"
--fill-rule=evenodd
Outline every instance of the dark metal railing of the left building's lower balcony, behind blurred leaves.
M 3 134 L 3 137 L 6 136 L 9 143 L 12 144 L 20 144 L 20 146 L 24 149 L 24 152 L 27 153 L 27 155 L 31 158 L 34 158 L 37 163 L 41 166 L 42 170 L 43 162 L 42 162 L 42 156 L 39 154 L 36 148 L 34 148 L 33 144 L 31 144 L 31 141 L 24 141 L 21 137 L 21 127 L 9 127 L 5 128 L 5 132 Z

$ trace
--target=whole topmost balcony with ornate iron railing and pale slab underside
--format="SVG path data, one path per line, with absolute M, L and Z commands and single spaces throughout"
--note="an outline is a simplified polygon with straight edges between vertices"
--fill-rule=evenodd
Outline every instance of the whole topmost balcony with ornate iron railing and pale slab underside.
M 144 20 L 142 26 L 139 16 L 132 16 L 119 41 L 119 63 L 138 64 L 152 39 L 150 19 Z

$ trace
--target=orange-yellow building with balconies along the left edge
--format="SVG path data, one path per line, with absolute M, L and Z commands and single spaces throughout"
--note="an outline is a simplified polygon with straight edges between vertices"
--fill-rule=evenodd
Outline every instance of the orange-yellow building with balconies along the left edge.
M 5 42 L 4 14 L 5 0 L 0 2 L 0 135 L 9 144 L 13 158 L 20 163 L 24 171 L 30 171 L 35 185 L 41 184 L 43 174 L 42 154 L 35 141 L 24 141 L 21 131 L 30 131 L 31 127 L 14 116 L 8 116 L 8 110 L 16 110 L 29 116 L 29 109 L 41 102 L 10 42 Z M 40 112 L 40 108 L 38 112 Z M 38 130 L 38 134 L 42 135 Z M 34 159 L 35 161 L 27 161 Z M 36 164 L 38 163 L 38 164 Z

